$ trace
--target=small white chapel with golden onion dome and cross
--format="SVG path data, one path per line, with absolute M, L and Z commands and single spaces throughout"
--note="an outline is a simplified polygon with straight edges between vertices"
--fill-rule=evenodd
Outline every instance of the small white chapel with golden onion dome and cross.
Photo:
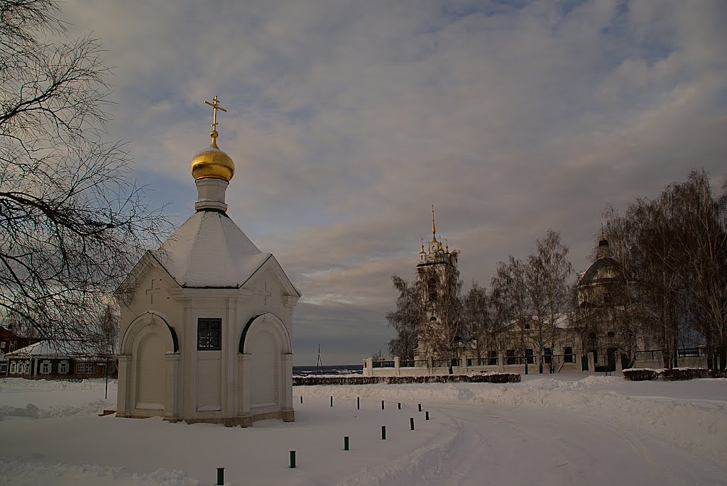
M 191 170 L 196 212 L 147 251 L 119 287 L 121 339 L 116 416 L 249 426 L 294 421 L 293 309 L 300 292 L 275 256 L 225 212 L 235 173 L 212 145 Z

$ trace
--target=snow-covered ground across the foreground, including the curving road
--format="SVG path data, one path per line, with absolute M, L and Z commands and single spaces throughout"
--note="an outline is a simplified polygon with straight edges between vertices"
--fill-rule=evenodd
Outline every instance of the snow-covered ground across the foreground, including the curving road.
M 215 469 L 225 467 L 234 486 L 727 485 L 727 380 L 542 376 L 508 385 L 300 386 L 294 424 L 249 429 L 99 417 L 113 407 L 113 382 L 103 400 L 103 381 L 5 379 L 0 484 L 214 485 Z M 297 469 L 288 467 L 289 450 Z

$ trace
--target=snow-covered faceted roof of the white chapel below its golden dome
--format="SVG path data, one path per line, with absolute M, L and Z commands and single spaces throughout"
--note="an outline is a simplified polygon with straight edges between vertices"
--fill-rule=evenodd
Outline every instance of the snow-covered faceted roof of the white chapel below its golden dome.
M 151 253 L 182 287 L 240 287 L 272 256 L 217 211 L 196 212 Z

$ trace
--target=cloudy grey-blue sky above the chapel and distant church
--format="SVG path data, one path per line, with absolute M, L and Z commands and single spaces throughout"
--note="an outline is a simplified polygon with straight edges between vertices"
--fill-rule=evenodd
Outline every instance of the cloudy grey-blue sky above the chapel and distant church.
M 85 1 L 114 137 L 135 177 L 193 212 L 193 155 L 236 163 L 228 214 L 305 294 L 295 364 L 361 363 L 393 337 L 390 276 L 437 229 L 487 285 L 560 230 L 588 264 L 606 203 L 726 174 L 727 2 Z

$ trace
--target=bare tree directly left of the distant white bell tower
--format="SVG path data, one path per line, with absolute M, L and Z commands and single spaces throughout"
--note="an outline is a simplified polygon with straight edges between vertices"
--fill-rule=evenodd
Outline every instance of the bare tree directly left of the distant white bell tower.
M 396 330 L 396 337 L 388 343 L 389 353 L 411 361 L 417 352 L 417 328 L 423 318 L 421 292 L 417 283 L 409 283 L 396 275 L 392 275 L 391 280 L 399 296 L 396 309 L 386 314 L 389 325 Z

